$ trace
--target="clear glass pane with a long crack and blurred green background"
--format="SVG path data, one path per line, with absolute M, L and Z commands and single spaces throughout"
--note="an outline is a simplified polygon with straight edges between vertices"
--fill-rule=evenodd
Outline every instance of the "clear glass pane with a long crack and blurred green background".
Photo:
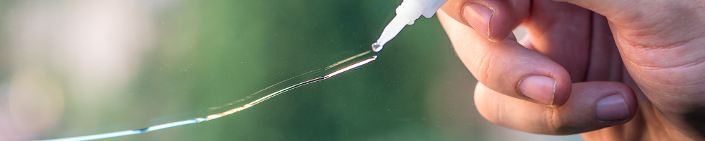
M 0 140 L 226 111 L 233 107 L 212 107 L 369 51 L 400 3 L 0 1 Z M 106 140 L 581 140 L 484 120 L 472 99 L 477 80 L 435 17 L 405 27 L 377 55 L 229 116 Z

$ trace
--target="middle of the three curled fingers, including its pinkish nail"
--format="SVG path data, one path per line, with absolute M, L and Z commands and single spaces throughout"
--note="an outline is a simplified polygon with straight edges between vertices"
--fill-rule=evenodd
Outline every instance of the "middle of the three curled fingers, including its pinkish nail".
M 513 35 L 490 42 L 445 11 L 437 14 L 458 57 L 479 82 L 496 92 L 551 108 L 568 100 L 571 81 L 563 66 L 522 47 Z

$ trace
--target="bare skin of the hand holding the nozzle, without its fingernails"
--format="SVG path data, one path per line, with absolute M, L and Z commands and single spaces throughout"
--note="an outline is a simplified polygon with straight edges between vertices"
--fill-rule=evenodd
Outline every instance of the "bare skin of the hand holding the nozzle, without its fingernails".
M 467 4 L 491 9 L 488 25 L 470 24 Z M 492 123 L 586 140 L 705 140 L 705 1 L 449 0 L 437 14 Z M 517 26 L 529 30 L 520 42 Z M 532 75 L 555 80 L 551 102 L 525 95 Z M 596 104 L 614 94 L 628 118 L 597 120 Z

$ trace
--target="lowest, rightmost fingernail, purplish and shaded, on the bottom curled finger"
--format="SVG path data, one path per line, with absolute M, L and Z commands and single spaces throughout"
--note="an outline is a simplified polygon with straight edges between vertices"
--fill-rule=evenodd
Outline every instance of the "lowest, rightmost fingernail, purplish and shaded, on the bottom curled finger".
M 618 121 L 629 118 L 629 108 L 622 94 L 600 99 L 595 106 L 595 118 L 599 121 Z

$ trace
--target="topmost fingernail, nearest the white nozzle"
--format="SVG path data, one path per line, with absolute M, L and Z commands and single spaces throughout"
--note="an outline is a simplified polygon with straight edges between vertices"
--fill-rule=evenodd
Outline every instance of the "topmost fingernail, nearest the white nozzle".
M 494 11 L 478 4 L 467 4 L 462 9 L 462 17 L 465 18 L 465 22 L 489 39 L 489 21 Z

